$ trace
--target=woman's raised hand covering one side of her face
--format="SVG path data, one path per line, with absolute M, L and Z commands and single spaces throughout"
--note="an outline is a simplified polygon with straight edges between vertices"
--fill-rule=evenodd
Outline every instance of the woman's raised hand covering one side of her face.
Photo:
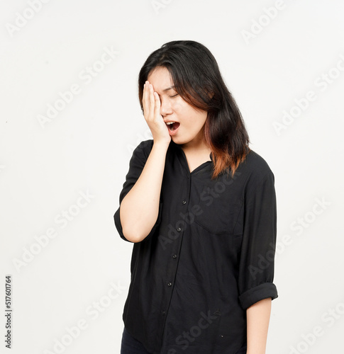
M 143 86 L 142 103 L 143 115 L 152 132 L 153 141 L 155 143 L 170 144 L 170 133 L 162 115 L 160 115 L 160 98 L 157 92 L 154 92 L 153 86 L 149 81 L 145 81 L 145 85 Z

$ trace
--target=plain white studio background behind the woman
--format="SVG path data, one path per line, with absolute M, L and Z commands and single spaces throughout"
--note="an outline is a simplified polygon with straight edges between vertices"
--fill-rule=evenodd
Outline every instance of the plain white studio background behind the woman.
M 11 353 L 119 353 L 132 244 L 113 214 L 133 148 L 151 138 L 138 72 L 170 40 L 211 50 L 251 149 L 274 172 L 279 297 L 267 354 L 343 353 L 344 2 L 29 2 L 0 5 L 1 353 L 5 275 Z M 73 85 L 70 102 L 39 122 Z

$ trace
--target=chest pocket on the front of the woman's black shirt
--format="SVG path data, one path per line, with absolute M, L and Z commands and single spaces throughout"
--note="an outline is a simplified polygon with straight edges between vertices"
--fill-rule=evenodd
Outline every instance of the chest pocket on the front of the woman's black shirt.
M 199 212 L 194 219 L 196 224 L 209 234 L 233 234 L 243 204 L 235 194 L 226 185 L 223 188 L 203 185 L 197 202 Z

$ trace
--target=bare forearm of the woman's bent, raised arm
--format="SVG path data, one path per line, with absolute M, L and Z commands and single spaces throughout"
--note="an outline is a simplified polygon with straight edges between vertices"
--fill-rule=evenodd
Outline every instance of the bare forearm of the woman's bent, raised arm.
M 138 181 L 123 198 L 120 219 L 128 241 L 145 239 L 157 221 L 168 144 L 153 144 Z

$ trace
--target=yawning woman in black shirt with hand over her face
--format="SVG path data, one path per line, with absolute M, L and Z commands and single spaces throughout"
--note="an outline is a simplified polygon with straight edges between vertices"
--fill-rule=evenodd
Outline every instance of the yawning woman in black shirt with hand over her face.
M 152 139 L 135 148 L 114 215 L 133 242 L 121 353 L 264 354 L 274 175 L 204 45 L 162 45 L 138 89 Z

